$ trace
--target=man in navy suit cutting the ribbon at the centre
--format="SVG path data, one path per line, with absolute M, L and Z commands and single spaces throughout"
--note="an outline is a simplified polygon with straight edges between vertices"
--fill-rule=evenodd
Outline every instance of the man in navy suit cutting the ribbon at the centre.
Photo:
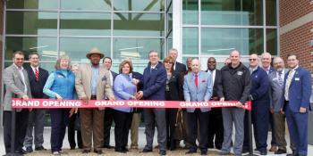
M 157 51 L 148 53 L 148 67 L 143 71 L 143 90 L 136 94 L 137 99 L 165 100 L 166 70 L 159 62 Z M 152 152 L 153 135 L 157 124 L 157 143 L 159 154 L 166 155 L 166 119 L 165 109 L 144 109 L 145 134 L 147 144 L 142 152 Z

